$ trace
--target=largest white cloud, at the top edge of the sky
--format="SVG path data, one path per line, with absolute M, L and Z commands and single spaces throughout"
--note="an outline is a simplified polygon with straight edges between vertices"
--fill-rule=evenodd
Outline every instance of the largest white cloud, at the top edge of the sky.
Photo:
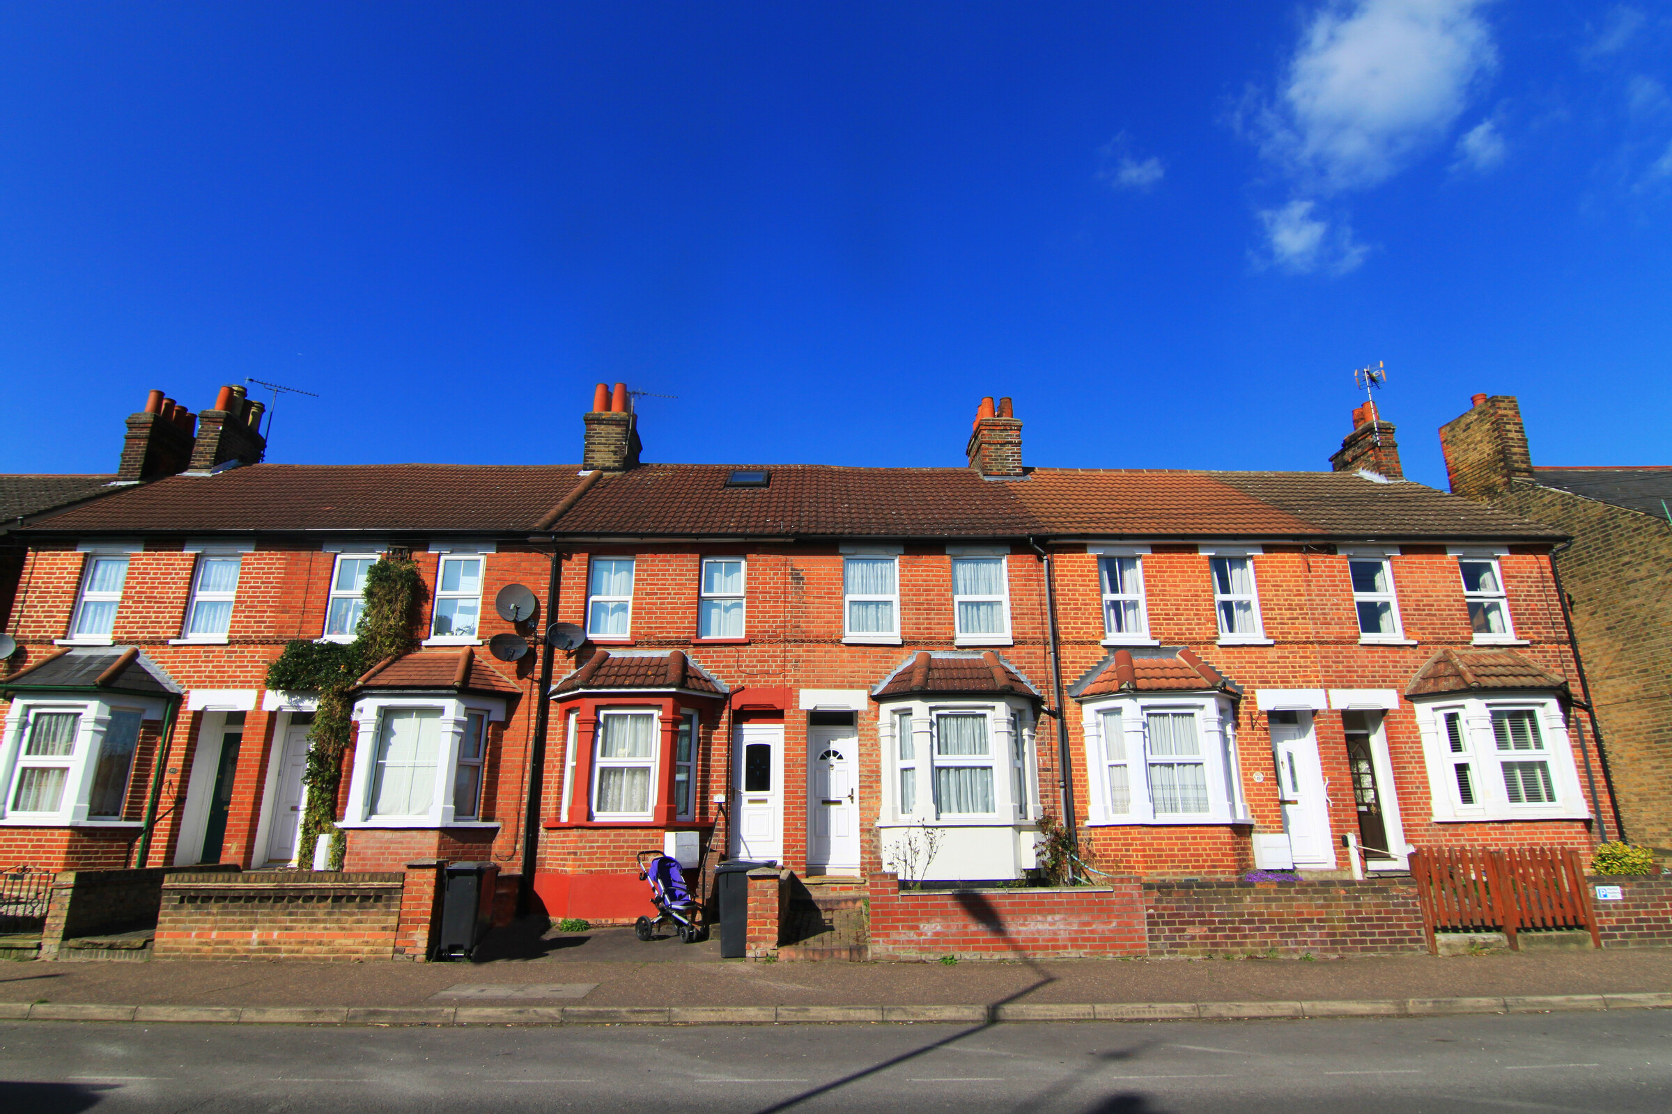
M 1309 192 L 1384 182 L 1443 142 L 1496 65 L 1483 0 L 1331 0 L 1257 120 L 1262 152 Z

